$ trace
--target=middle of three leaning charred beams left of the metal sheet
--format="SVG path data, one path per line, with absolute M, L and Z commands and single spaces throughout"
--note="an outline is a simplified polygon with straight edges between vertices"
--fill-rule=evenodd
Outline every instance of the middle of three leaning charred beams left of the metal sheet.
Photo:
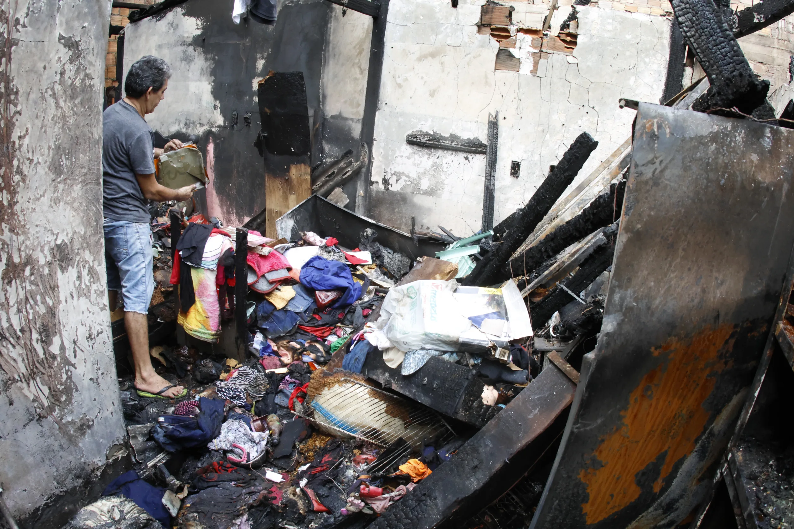
M 530 274 L 547 259 L 557 255 L 571 244 L 615 222 L 623 207 L 626 194 L 626 180 L 615 182 L 571 220 L 549 233 L 538 244 L 527 249 L 515 259 L 511 259 L 502 270 L 506 276 L 511 274 Z

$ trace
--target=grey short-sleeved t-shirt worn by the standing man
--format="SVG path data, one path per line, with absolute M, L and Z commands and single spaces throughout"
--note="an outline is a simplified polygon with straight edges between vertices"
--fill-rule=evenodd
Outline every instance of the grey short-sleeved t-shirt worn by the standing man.
M 149 223 L 136 174 L 154 172 L 154 132 L 123 100 L 102 113 L 102 215 L 110 220 Z

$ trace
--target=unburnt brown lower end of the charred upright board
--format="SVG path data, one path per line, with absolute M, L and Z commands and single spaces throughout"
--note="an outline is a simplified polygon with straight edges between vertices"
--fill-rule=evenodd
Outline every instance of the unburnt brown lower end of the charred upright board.
M 287 178 L 264 174 L 264 236 L 278 239 L 276 219 L 311 196 L 311 169 L 308 163 L 295 163 L 289 167 Z

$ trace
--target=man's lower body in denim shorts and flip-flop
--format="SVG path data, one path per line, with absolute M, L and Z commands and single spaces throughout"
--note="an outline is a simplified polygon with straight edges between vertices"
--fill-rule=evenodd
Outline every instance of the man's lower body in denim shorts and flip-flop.
M 118 266 L 121 277 L 121 296 L 124 298 L 124 324 L 129 348 L 135 364 L 135 387 L 148 393 L 157 393 L 171 382 L 156 374 L 148 351 L 148 304 L 152 299 L 152 245 L 148 224 L 130 224 L 109 232 L 105 243 Z M 183 387 L 177 385 L 162 393 L 163 397 L 176 397 Z

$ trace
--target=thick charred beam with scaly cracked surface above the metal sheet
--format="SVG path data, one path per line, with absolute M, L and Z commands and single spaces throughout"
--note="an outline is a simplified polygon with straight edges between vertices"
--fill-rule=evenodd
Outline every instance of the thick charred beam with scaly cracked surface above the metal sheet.
M 684 41 L 692 48 L 711 84 L 692 109 L 732 109 L 751 114 L 766 101 L 769 81 L 750 68 L 734 33 L 712 0 L 672 0 Z

